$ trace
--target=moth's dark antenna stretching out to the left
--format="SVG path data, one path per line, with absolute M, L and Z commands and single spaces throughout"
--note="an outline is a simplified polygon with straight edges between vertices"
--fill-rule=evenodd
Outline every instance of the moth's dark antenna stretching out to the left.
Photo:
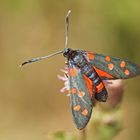
M 26 64 L 37 62 L 37 61 L 40 61 L 40 60 L 43 60 L 43 59 L 46 59 L 46 58 L 61 54 L 61 53 L 63 53 L 63 51 L 58 51 L 58 52 L 55 52 L 55 53 L 52 53 L 52 54 L 49 54 L 49 55 L 46 55 L 46 56 L 43 56 L 43 57 L 38 57 L 38 58 L 33 58 L 33 59 L 30 59 L 30 60 L 27 60 L 27 61 L 23 62 L 20 65 L 20 67 L 22 67 L 23 65 L 26 65 Z

